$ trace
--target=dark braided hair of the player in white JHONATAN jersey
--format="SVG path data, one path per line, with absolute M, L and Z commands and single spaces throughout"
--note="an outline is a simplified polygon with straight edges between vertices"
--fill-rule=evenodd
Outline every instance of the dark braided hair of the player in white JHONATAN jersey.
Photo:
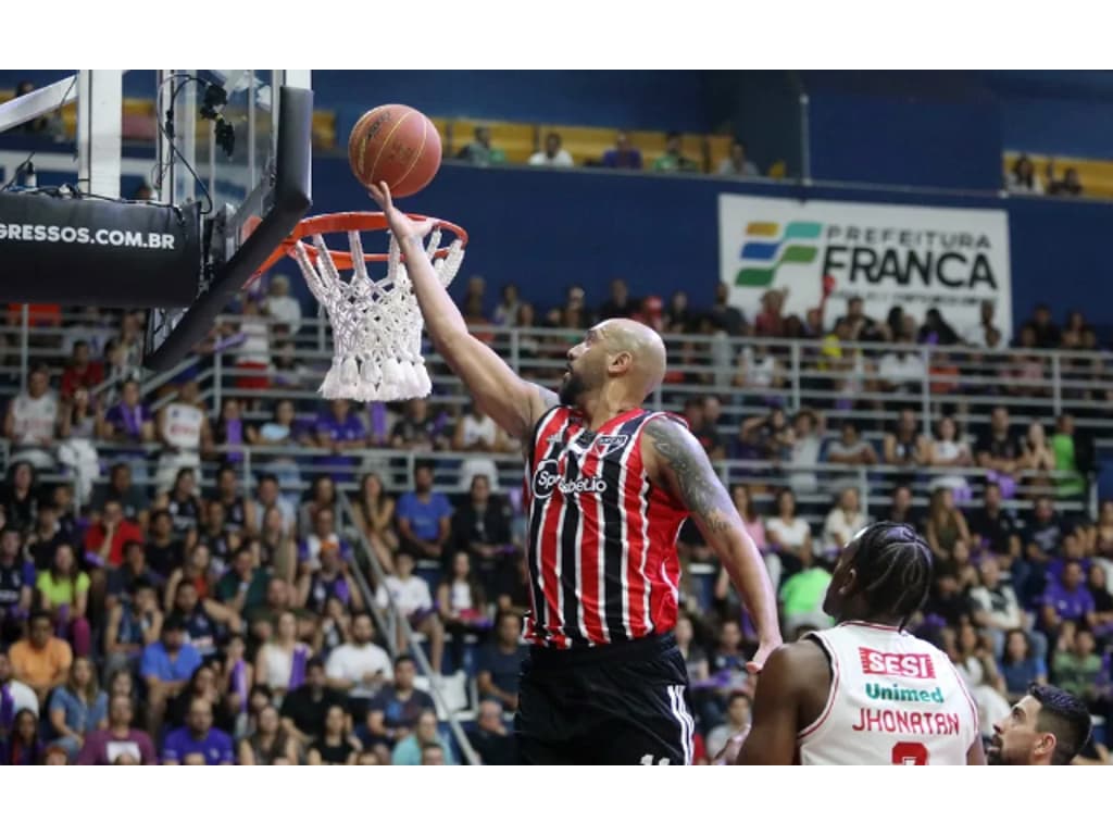
M 898 617 L 903 629 L 927 601 L 934 561 L 932 549 L 912 525 L 868 525 L 858 538 L 851 566 L 869 613 Z

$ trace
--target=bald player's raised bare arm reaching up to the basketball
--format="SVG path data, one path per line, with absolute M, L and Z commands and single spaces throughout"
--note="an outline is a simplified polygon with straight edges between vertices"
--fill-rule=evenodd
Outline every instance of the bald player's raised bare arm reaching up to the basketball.
M 434 347 L 464 381 L 480 411 L 490 414 L 508 434 L 528 438 L 542 413 L 556 405 L 556 395 L 519 377 L 502 357 L 467 332 L 464 317 L 441 285 L 425 254 L 423 242 L 433 222 L 414 223 L 394 206 L 385 183 L 373 186 L 371 196 L 386 215 L 402 249 Z

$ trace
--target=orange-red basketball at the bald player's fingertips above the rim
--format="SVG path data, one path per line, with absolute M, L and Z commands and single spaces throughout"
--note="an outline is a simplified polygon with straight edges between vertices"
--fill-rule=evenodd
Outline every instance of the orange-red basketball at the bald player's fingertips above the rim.
M 430 184 L 441 167 L 441 135 L 429 117 L 405 105 L 380 105 L 352 128 L 348 163 L 363 185 L 386 181 L 406 197 Z

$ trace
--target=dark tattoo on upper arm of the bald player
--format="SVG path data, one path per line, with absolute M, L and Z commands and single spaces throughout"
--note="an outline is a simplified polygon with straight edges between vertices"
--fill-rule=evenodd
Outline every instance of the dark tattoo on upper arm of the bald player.
M 731 527 L 735 508 L 730 504 L 722 482 L 711 469 L 703 450 L 686 429 L 668 418 L 646 424 L 646 434 L 653 441 L 653 449 L 668 466 L 662 473 L 667 482 L 679 491 L 678 497 L 688 512 L 702 520 L 712 533 Z

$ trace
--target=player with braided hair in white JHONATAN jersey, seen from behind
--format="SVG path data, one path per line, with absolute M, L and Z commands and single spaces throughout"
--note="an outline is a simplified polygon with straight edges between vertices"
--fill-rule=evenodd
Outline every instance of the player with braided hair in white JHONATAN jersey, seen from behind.
M 930 582 L 932 551 L 910 527 L 863 529 L 824 600 L 837 626 L 769 657 L 737 763 L 985 765 L 977 708 L 951 660 L 904 631 Z

